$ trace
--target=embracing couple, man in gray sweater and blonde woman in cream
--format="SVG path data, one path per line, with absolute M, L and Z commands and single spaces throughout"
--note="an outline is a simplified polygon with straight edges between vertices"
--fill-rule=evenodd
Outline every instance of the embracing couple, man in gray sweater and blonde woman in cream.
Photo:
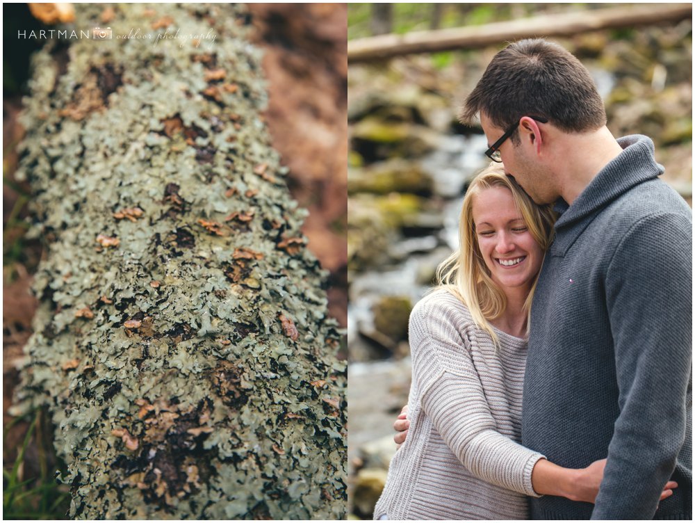
M 500 51 L 476 115 L 375 519 L 692 520 L 692 211 L 558 45 Z

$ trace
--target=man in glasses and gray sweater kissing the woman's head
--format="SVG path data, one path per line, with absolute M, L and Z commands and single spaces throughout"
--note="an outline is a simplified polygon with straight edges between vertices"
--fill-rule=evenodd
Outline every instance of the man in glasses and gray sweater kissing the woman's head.
M 692 211 L 657 179 L 649 138 L 612 136 L 589 72 L 558 45 L 500 51 L 461 120 L 478 114 L 486 154 L 560 214 L 534 295 L 521 443 L 564 467 L 607 457 L 595 506 L 541 497 L 532 518 L 692 520 Z M 678 488 L 659 504 L 669 478 Z

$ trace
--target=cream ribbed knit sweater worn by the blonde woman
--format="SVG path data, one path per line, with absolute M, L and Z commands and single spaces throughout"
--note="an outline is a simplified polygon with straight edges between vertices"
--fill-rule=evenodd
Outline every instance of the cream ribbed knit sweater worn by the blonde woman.
M 448 291 L 413 309 L 411 426 L 375 519 L 528 519 L 531 472 L 543 456 L 516 443 L 526 341 L 496 333 L 498 351 Z

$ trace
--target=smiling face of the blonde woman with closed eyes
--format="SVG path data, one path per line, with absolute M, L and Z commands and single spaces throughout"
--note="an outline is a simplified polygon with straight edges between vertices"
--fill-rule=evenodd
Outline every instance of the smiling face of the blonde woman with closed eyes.
M 543 250 L 529 232 L 504 187 L 485 188 L 473 199 L 475 237 L 493 282 L 507 287 L 528 287 L 541 270 Z

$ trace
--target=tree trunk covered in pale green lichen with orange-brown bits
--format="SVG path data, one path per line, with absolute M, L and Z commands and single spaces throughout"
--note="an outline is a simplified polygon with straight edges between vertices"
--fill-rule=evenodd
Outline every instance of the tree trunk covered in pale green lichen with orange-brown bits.
M 247 24 L 80 4 L 113 38 L 34 58 L 20 171 L 46 254 L 17 410 L 49 408 L 72 517 L 344 516 L 341 332 Z

